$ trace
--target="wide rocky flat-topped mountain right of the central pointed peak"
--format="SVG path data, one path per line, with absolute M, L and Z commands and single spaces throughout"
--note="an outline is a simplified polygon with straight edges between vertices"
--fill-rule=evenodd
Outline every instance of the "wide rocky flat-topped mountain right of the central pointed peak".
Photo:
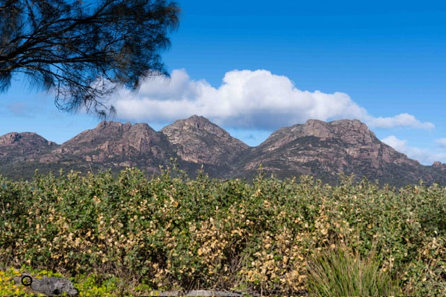
M 438 179 L 426 166 L 379 141 L 358 120 L 308 120 L 279 129 L 238 163 L 234 175 L 254 175 L 260 164 L 277 177 L 308 174 L 324 182 L 334 182 L 341 172 L 394 185 Z

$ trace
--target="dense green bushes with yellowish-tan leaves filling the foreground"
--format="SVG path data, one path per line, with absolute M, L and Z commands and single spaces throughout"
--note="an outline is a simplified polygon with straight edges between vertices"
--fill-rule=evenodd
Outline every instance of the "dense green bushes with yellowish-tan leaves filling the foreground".
M 5 287 L 7 271 L 22 267 L 70 276 L 83 295 L 323 294 L 324 278 L 346 267 L 344 282 L 387 283 L 377 284 L 381 295 L 444 295 L 445 241 L 446 187 L 436 184 L 396 189 L 344 177 L 329 186 L 261 173 L 245 182 L 170 170 L 148 179 L 137 169 L 0 177 L 3 293 L 18 294 Z

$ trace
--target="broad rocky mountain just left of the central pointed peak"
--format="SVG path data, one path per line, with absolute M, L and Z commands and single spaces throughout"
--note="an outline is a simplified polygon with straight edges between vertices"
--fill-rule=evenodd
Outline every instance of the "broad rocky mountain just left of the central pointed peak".
M 157 172 L 169 159 L 169 143 L 146 123 L 100 122 L 54 150 L 54 161 L 95 170 L 137 166 Z M 87 167 L 88 166 L 88 167 Z

